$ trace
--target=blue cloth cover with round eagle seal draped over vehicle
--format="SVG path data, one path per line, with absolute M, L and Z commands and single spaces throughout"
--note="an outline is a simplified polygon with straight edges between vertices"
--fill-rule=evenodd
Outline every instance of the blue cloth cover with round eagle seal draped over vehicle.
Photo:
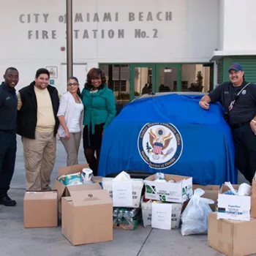
M 237 184 L 230 127 L 219 104 L 168 94 L 130 102 L 105 129 L 99 176 L 121 170 L 192 176 L 194 184 Z

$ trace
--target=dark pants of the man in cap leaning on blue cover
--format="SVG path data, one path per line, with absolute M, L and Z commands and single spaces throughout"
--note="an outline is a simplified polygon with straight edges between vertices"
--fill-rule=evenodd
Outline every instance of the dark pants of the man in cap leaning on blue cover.
M 256 136 L 249 124 L 233 128 L 232 132 L 236 149 L 236 167 L 251 184 L 256 171 Z

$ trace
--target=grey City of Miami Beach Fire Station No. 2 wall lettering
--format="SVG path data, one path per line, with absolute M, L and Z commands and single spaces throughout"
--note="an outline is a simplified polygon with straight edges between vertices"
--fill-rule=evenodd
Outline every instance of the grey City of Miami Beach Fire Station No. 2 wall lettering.
M 98 12 L 94 13 L 82 13 L 78 12 L 73 15 L 74 27 L 76 23 L 119 23 L 120 14 L 119 12 L 103 12 L 99 14 Z M 19 22 L 20 23 L 48 23 L 50 15 L 49 13 L 33 13 L 33 14 L 20 14 Z M 66 15 L 59 15 L 59 17 L 53 17 L 59 23 L 67 23 Z M 162 21 L 172 21 L 172 12 L 170 11 L 161 11 L 161 12 L 127 12 L 126 20 L 129 23 L 139 21 L 141 23 L 152 23 L 162 22 Z M 74 38 L 75 39 L 97 39 L 97 38 L 120 38 L 124 39 L 126 37 L 126 29 L 74 29 Z M 158 38 L 159 33 L 158 29 L 152 28 L 148 30 L 143 29 L 134 29 L 133 36 L 135 38 Z M 64 37 L 63 31 L 45 30 L 45 29 L 36 29 L 27 31 L 28 39 L 57 39 L 58 37 Z

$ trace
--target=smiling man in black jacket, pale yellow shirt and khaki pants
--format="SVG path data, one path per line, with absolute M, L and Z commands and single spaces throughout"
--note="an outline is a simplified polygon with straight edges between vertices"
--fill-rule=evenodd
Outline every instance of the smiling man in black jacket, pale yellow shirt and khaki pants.
M 47 69 L 38 69 L 34 82 L 18 93 L 17 133 L 23 141 L 26 190 L 50 189 L 56 160 L 59 94 L 49 78 Z

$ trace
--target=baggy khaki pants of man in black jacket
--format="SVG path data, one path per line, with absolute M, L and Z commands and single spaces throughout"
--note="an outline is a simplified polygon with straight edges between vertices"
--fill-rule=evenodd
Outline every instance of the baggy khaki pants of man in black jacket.
M 26 167 L 26 190 L 47 189 L 56 159 L 53 132 L 36 132 L 36 139 L 22 138 Z

